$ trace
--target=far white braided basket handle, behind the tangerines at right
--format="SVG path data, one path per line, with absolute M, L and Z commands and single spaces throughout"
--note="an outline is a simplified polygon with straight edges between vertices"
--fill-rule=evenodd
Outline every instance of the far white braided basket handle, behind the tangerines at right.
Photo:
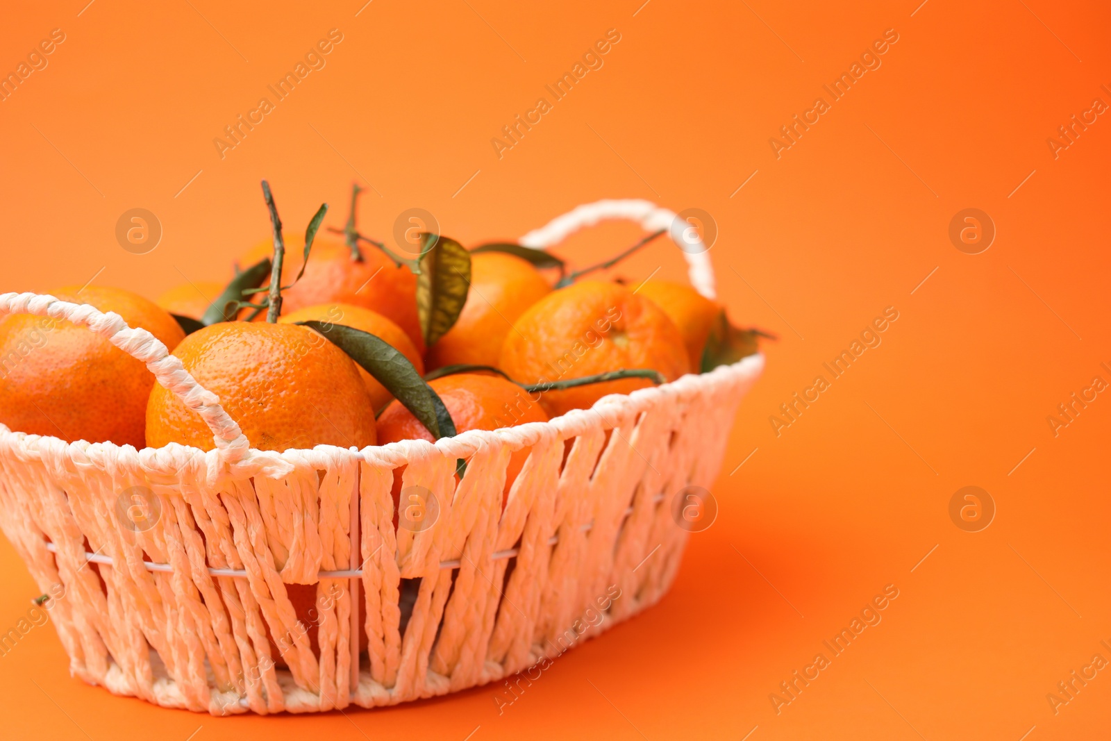
M 687 258 L 691 286 L 708 299 L 717 298 L 713 281 L 713 264 L 707 248 L 691 226 L 674 211 L 658 207 L 651 201 L 635 199 L 604 200 L 584 203 L 549 221 L 540 229 L 533 229 L 520 239 L 524 247 L 543 250 L 558 244 L 583 227 L 592 227 L 608 219 L 635 221 L 645 231 L 667 229 L 672 241 Z

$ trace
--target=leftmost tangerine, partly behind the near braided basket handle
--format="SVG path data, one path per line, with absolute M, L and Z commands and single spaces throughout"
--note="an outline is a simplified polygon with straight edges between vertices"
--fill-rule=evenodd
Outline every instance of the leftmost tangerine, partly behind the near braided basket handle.
M 62 288 L 63 301 L 114 311 L 167 348 L 184 332 L 153 302 L 116 288 Z M 67 441 L 143 447 L 147 397 L 154 375 L 91 330 L 32 314 L 0 320 L 0 422 Z

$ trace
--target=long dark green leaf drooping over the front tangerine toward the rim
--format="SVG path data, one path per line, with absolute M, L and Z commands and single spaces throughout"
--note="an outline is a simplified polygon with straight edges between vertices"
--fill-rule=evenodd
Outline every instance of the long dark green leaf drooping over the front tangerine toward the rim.
M 364 368 L 393 394 L 394 399 L 413 413 L 434 439 L 454 437 L 456 424 L 443 401 L 432 387 L 424 382 L 409 359 L 386 340 L 343 324 L 320 321 L 297 323 L 320 332 L 351 360 Z

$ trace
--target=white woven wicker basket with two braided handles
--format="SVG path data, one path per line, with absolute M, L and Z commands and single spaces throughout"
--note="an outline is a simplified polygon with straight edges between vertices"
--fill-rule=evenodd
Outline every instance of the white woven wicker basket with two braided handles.
M 704 250 L 645 201 L 580 207 L 521 241 L 543 248 L 613 218 L 670 229 L 692 283 L 713 294 Z M 0 524 L 49 595 L 72 673 L 213 714 L 453 692 L 550 660 L 654 603 L 688 537 L 672 503 L 712 484 L 737 404 L 763 368 L 752 356 L 550 422 L 434 444 L 277 453 L 250 449 L 219 400 L 117 314 L 30 293 L 0 296 L 7 313 L 88 327 L 211 427 L 217 448 L 202 452 L 67 443 L 0 424 Z M 507 463 L 522 448 L 531 452 L 502 512 Z M 394 527 L 401 465 L 403 487 L 434 492 L 429 527 Z M 292 584 L 316 584 L 311 624 Z M 282 637 L 277 653 L 272 637 Z

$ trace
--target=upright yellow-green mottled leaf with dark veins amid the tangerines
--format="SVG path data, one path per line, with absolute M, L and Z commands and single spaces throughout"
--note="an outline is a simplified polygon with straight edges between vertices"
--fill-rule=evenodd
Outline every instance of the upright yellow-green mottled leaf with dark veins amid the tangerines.
M 421 234 L 418 259 L 417 314 L 424 344 L 432 344 L 454 326 L 471 286 L 471 253 L 448 237 Z M 414 271 L 416 272 L 416 271 Z

